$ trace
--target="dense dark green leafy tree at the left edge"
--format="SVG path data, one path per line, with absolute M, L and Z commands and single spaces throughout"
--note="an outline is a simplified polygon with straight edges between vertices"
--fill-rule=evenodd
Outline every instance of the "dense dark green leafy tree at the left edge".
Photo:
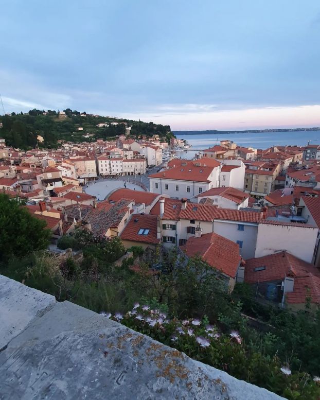
M 1 193 L 0 262 L 45 249 L 51 234 L 45 227 L 45 221 L 33 217 L 19 200 Z

